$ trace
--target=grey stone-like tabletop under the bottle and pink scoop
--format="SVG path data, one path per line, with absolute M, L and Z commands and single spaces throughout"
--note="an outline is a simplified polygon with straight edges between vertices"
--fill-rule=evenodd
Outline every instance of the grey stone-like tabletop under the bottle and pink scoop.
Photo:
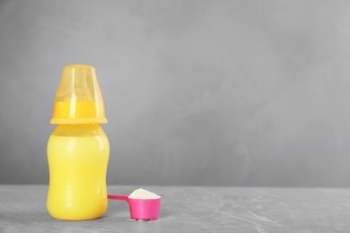
M 127 203 L 118 201 L 98 220 L 55 220 L 46 211 L 48 186 L 0 186 L 0 232 L 350 232 L 350 189 L 144 188 L 162 195 L 159 220 L 131 220 Z

